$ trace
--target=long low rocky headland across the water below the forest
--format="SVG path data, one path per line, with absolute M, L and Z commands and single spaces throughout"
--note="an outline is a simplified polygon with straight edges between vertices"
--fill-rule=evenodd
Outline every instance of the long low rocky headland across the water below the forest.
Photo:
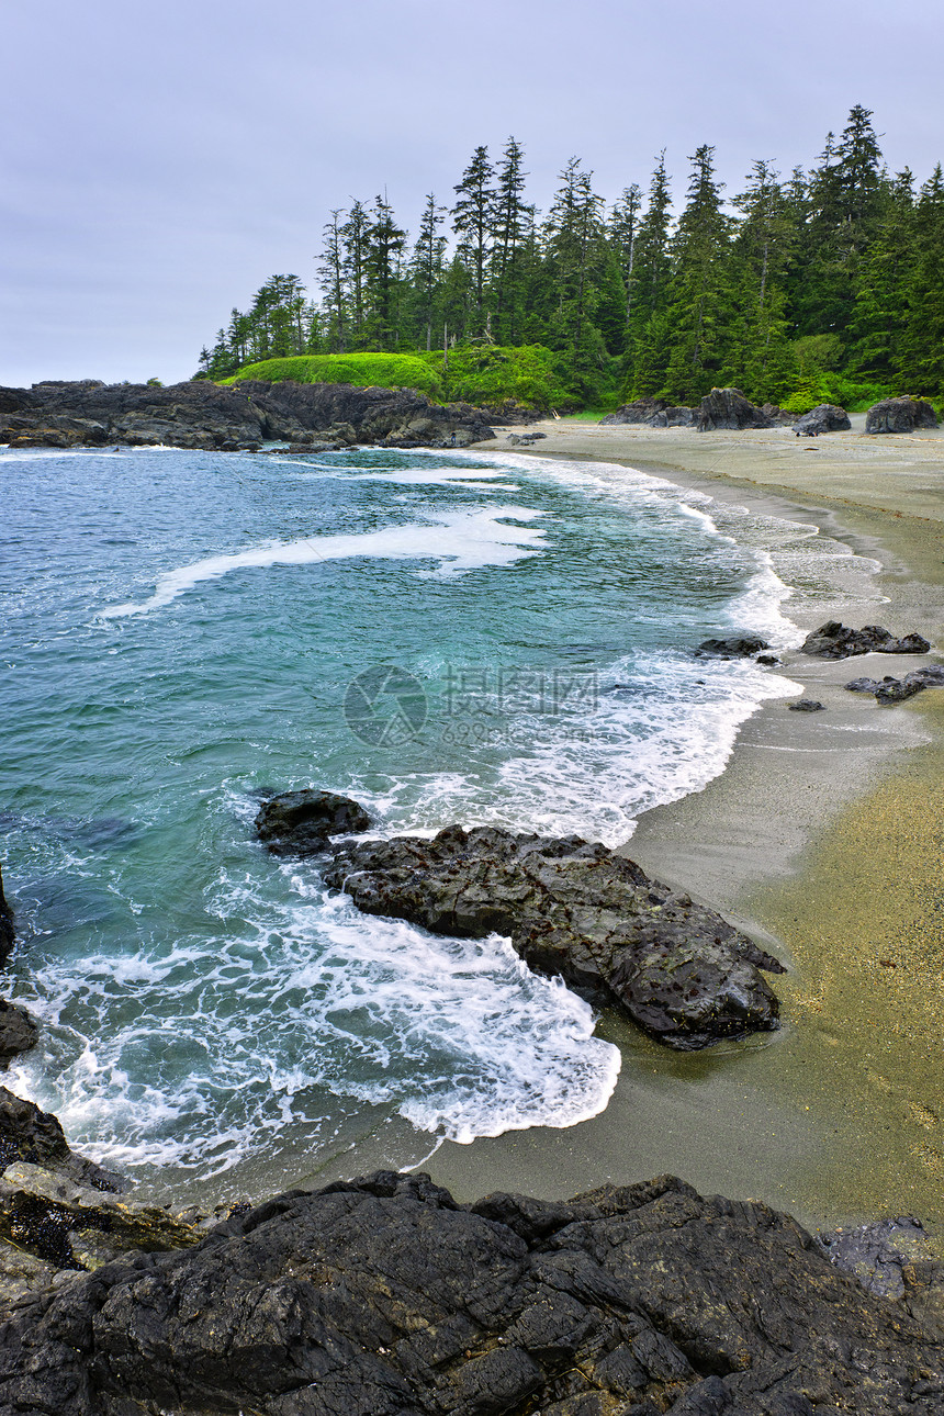
M 493 436 L 480 409 L 440 406 L 409 388 L 258 381 L 218 388 L 202 379 L 157 388 L 86 379 L 0 389 L 0 440 L 13 447 L 120 443 L 253 450 L 263 440 L 304 450 L 314 450 L 318 440 L 323 446 L 466 447 Z

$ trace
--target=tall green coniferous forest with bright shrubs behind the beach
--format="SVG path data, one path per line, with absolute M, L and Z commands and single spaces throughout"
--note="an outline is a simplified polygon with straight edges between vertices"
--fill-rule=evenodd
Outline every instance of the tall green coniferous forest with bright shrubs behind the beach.
M 416 355 L 398 382 L 425 364 L 420 387 L 473 401 L 693 404 L 729 384 L 794 411 L 944 396 L 940 164 L 923 183 L 890 173 L 862 106 L 810 170 L 757 160 L 733 197 L 713 147 L 689 161 L 682 194 L 661 153 L 647 183 L 607 202 L 572 157 L 542 214 L 511 137 L 497 156 L 474 150 L 449 205 L 426 197 L 413 241 L 386 195 L 352 201 L 324 228 L 320 299 L 272 276 L 197 377 L 388 353 Z M 294 362 L 282 377 L 306 375 Z

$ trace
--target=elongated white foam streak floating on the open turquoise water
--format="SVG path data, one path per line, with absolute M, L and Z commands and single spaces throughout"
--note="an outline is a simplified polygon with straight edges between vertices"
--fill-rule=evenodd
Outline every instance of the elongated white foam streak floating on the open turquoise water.
M 545 532 L 507 521 L 526 523 L 541 513 L 528 507 L 481 507 L 476 511 L 443 511 L 429 523 L 384 527 L 358 535 L 313 535 L 303 541 L 270 541 L 249 551 L 211 555 L 192 565 L 167 571 L 157 588 L 140 603 L 112 605 L 99 613 L 105 619 L 146 615 L 170 605 L 178 595 L 204 581 L 218 581 L 232 571 L 269 569 L 273 565 L 317 565 L 323 561 L 348 561 L 355 556 L 398 561 L 439 561 L 439 573 L 480 569 L 487 565 L 514 565 L 529 555 L 539 555 Z

